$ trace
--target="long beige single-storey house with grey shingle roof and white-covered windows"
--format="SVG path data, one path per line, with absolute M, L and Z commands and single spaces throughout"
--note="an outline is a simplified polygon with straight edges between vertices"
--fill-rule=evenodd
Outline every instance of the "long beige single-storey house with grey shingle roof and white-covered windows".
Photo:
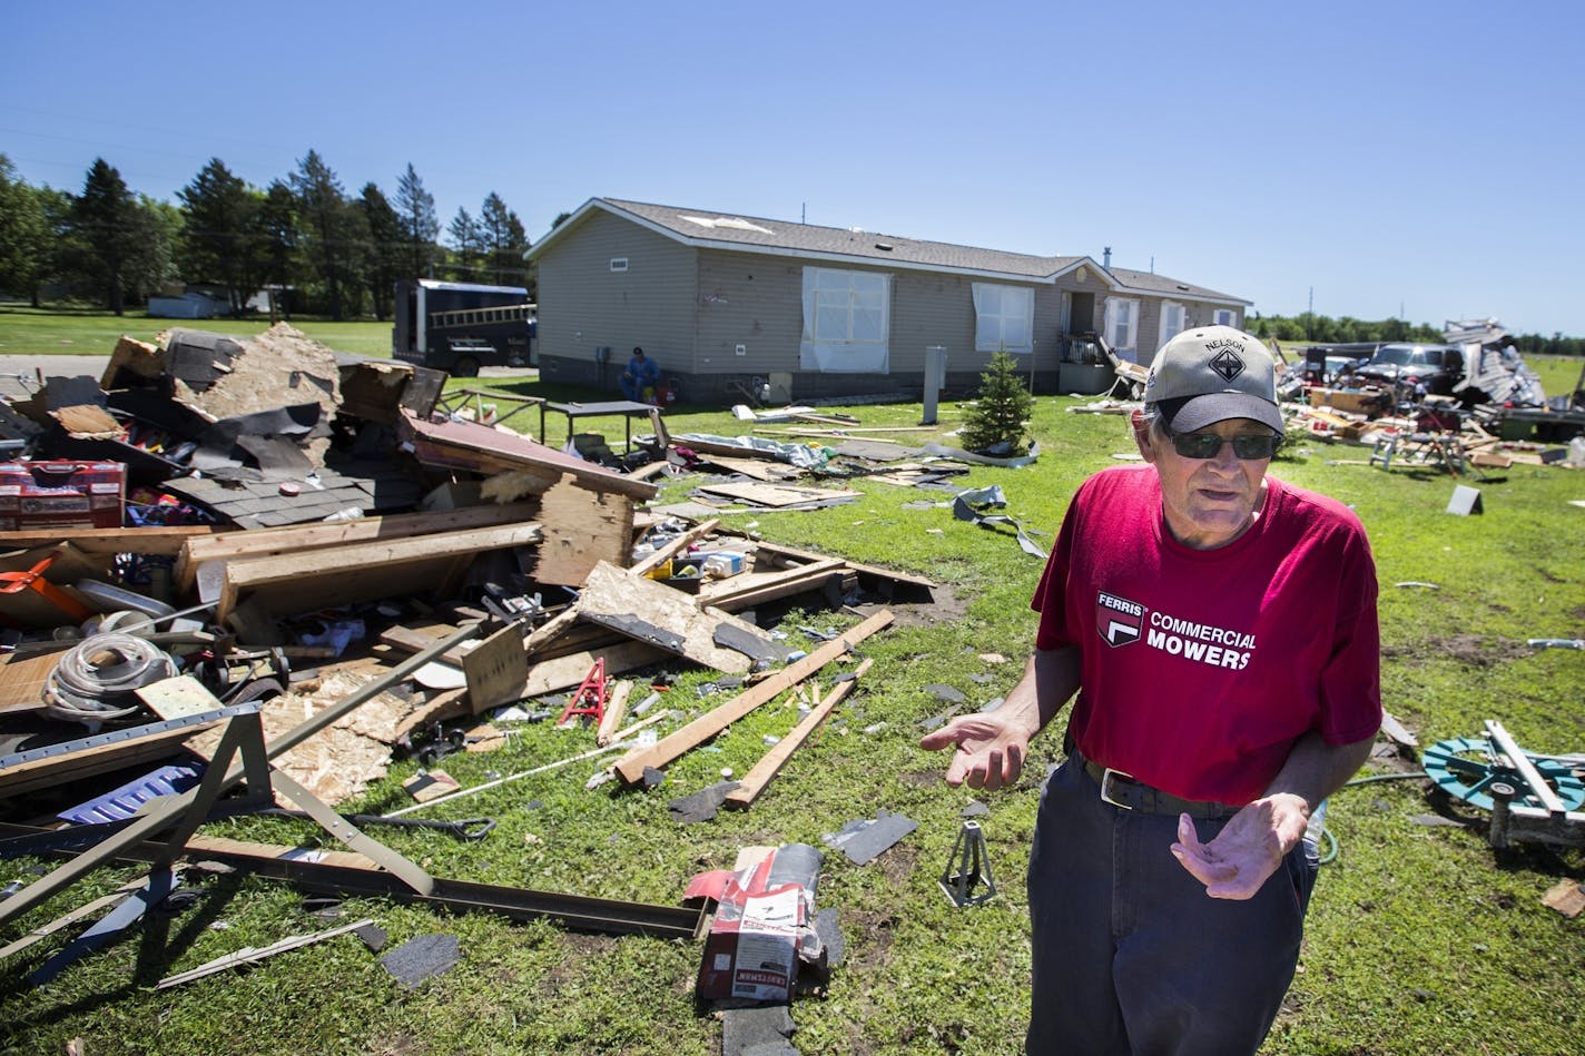
M 926 349 L 970 392 L 991 355 L 1035 390 L 1105 392 L 1094 336 L 1149 362 L 1249 301 L 1090 257 L 1032 257 L 710 209 L 591 198 L 528 252 L 547 381 L 617 390 L 642 347 L 688 403 L 918 398 Z

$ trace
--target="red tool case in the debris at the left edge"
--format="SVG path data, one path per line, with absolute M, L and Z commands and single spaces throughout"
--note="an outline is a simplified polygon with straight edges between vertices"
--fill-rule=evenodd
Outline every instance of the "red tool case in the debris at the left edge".
M 0 531 L 120 528 L 125 498 L 119 461 L 0 463 Z

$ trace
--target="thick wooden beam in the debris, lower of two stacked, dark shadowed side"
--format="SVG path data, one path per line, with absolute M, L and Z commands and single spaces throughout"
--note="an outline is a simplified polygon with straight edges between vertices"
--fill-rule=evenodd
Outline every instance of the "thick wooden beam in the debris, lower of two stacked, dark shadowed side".
M 468 528 L 225 563 L 216 620 L 249 596 L 273 615 L 434 590 L 477 553 L 539 542 L 536 523 Z

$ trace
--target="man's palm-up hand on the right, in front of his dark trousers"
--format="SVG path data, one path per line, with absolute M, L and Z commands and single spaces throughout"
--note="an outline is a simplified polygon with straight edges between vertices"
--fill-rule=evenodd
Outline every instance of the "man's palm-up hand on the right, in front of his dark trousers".
M 1309 810 L 1298 796 L 1266 796 L 1235 813 L 1209 844 L 1201 844 L 1194 820 L 1182 813 L 1173 858 L 1213 899 L 1254 897 L 1282 856 L 1304 837 L 1308 820 Z

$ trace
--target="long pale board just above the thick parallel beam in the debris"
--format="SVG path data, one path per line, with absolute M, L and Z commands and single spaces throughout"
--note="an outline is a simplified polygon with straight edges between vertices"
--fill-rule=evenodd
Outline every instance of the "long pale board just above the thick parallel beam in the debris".
M 192 590 L 198 566 L 204 561 L 231 558 L 279 557 L 301 553 L 320 547 L 339 547 L 349 542 L 374 539 L 409 539 L 461 528 L 488 528 L 533 520 L 539 512 L 534 501 L 463 506 L 423 514 L 387 514 L 384 517 L 360 517 L 319 525 L 287 525 L 282 528 L 252 528 L 249 531 L 225 531 L 208 536 L 185 538 L 176 558 L 176 585 Z M 130 530 L 128 530 L 130 531 Z M 143 531 L 160 531 L 139 528 Z M 74 539 L 74 538 L 73 538 Z M 124 547 L 125 549 L 125 547 Z

